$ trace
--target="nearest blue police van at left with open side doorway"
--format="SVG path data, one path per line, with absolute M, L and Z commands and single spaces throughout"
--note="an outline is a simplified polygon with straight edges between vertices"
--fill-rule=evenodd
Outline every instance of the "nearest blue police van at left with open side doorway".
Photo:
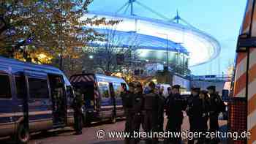
M 0 137 L 27 143 L 30 132 L 71 126 L 72 96 L 61 70 L 0 57 Z

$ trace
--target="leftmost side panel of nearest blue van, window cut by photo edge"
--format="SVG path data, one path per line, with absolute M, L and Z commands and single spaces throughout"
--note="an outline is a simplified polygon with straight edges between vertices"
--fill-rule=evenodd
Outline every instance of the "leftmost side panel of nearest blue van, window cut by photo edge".
M 0 135 L 12 134 L 15 129 L 15 105 L 12 99 L 12 79 L 7 72 L 0 71 Z

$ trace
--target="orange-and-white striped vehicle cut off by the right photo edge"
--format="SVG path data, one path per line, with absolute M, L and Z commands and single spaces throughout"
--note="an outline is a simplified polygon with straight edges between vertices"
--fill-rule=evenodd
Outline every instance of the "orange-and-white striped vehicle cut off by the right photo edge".
M 251 132 L 230 143 L 256 143 L 256 0 L 248 0 L 238 37 L 233 91 L 229 102 L 228 130 Z

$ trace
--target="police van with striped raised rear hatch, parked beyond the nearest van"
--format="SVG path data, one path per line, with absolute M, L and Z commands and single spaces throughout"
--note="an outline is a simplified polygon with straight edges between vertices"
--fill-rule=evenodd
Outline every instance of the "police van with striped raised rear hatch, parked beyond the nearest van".
M 121 85 L 127 86 L 127 83 L 123 79 L 99 74 L 80 74 L 72 75 L 69 80 L 72 86 L 81 88 L 85 96 L 84 124 L 106 119 L 115 123 L 117 117 L 124 116 L 120 88 Z

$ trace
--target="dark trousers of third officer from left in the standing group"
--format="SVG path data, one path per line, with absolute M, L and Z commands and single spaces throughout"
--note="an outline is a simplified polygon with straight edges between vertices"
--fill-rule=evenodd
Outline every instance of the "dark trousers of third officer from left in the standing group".
M 158 132 L 159 131 L 159 126 L 157 124 L 157 115 L 154 115 L 154 112 L 151 110 L 146 111 L 143 119 L 143 128 L 145 132 L 151 133 L 151 132 Z M 155 144 L 158 143 L 158 138 L 157 137 L 147 137 L 146 138 L 146 144 Z

